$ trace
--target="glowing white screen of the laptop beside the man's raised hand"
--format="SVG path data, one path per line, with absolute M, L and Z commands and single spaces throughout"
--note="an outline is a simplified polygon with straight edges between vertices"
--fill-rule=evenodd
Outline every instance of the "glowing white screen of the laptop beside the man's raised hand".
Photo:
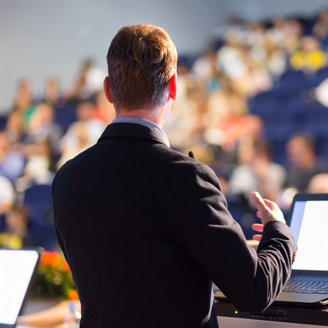
M 290 227 L 297 238 L 294 270 L 328 272 L 328 200 L 297 200 Z

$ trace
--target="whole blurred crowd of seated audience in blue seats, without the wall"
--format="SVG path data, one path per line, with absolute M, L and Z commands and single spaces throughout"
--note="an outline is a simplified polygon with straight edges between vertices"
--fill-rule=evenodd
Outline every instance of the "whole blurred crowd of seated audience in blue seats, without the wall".
M 246 231 L 256 220 L 247 198 L 253 190 L 285 211 L 297 192 L 327 192 L 328 10 L 315 20 L 232 17 L 220 31 L 198 58 L 179 58 L 177 99 L 163 129 L 172 148 L 213 168 Z M 53 233 L 56 171 L 94 145 L 115 117 L 105 76 L 87 59 L 68 90 L 48 76 L 35 97 L 29 79 L 18 81 L 8 117 L 0 117 L 1 245 L 40 245 L 40 227 Z M 30 213 L 21 208 L 27 198 Z M 45 210 L 32 213 L 38 205 Z M 51 242 L 45 247 L 54 248 Z

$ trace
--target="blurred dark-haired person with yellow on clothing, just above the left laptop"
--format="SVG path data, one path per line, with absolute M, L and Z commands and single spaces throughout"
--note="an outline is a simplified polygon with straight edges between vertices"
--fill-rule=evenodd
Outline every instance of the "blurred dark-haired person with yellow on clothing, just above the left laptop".
M 33 237 L 28 230 L 28 214 L 24 208 L 14 207 L 5 217 L 6 229 L 0 233 L 0 247 L 20 249 L 33 246 Z

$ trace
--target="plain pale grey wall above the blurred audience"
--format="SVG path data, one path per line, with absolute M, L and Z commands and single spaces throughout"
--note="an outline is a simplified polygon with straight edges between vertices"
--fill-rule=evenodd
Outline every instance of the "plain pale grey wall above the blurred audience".
M 198 53 L 228 13 L 254 19 L 323 5 L 327 0 L 0 0 L 0 112 L 9 109 L 20 77 L 40 94 L 49 75 L 67 87 L 86 57 L 106 69 L 110 41 L 124 25 L 161 26 L 178 52 Z

